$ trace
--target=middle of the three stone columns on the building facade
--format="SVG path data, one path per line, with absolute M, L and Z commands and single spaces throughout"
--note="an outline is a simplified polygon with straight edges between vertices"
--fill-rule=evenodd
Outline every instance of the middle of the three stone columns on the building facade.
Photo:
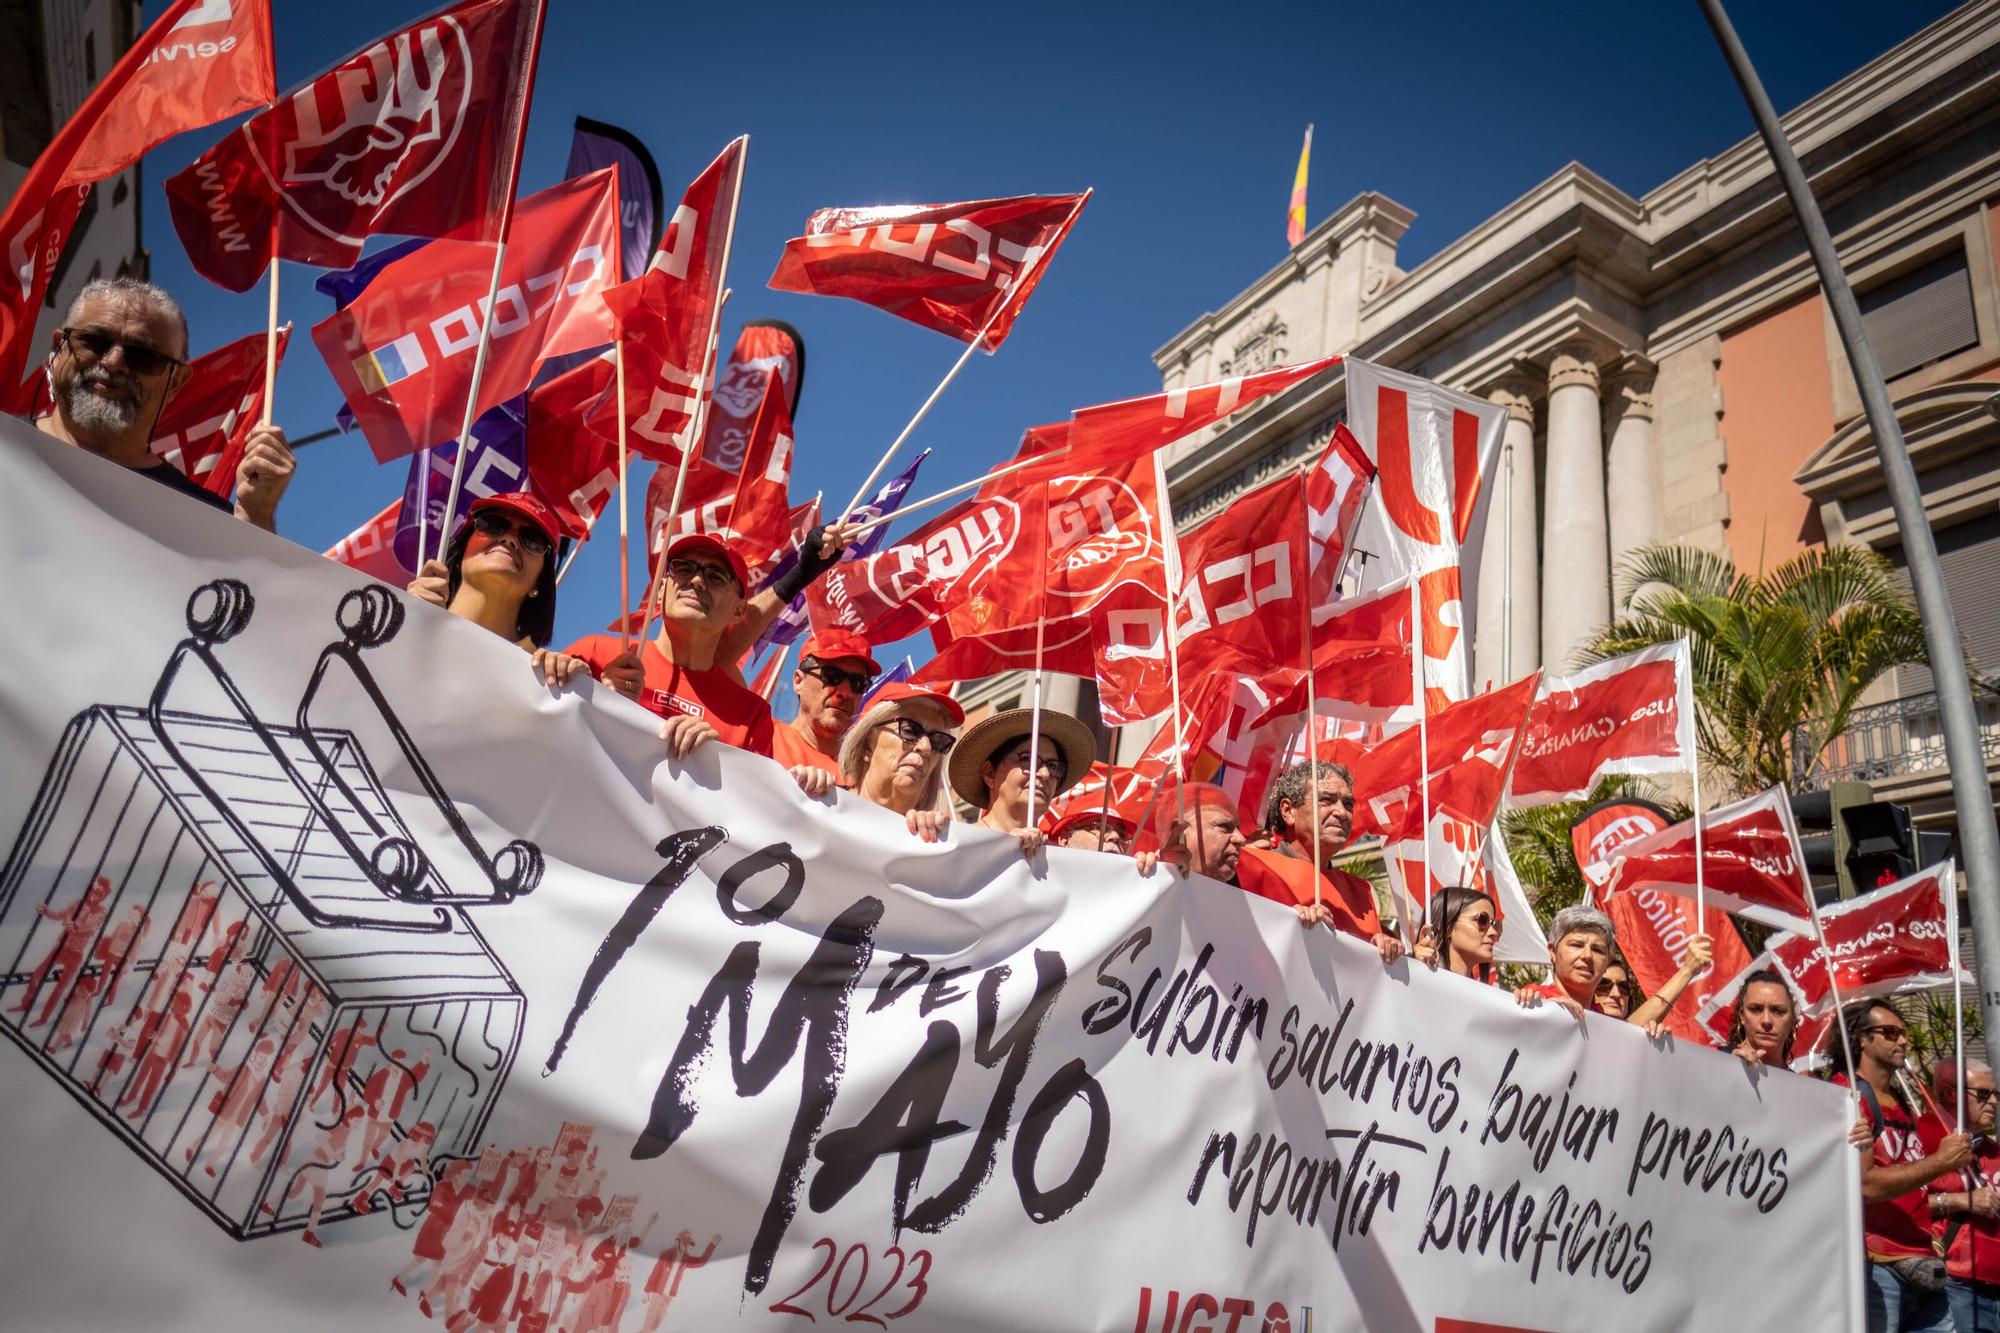
M 1556 348 L 1548 362 L 1548 486 L 1542 514 L 1542 666 L 1570 656 L 1610 622 L 1610 534 L 1604 514 L 1604 404 L 1598 350 Z

